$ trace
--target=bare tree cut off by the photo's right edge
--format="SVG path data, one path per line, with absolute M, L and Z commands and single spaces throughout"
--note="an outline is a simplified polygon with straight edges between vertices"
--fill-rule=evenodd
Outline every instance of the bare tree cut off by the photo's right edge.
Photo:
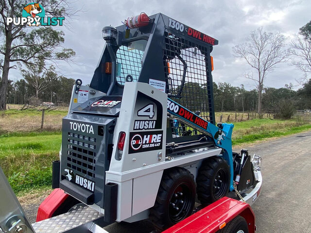
M 292 41 L 292 65 L 304 72 L 304 77 L 296 80 L 303 84 L 308 82 L 308 74 L 311 73 L 311 41 L 300 35 Z

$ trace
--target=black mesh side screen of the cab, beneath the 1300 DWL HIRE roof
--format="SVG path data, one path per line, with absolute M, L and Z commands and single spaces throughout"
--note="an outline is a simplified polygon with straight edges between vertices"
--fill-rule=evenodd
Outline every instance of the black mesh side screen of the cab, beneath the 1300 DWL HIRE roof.
M 209 47 L 202 47 L 172 33 L 165 34 L 165 45 L 163 57 L 169 98 L 210 121 L 210 83 L 206 60 L 210 59 Z M 171 125 L 176 136 L 200 134 L 178 119 L 171 120 Z

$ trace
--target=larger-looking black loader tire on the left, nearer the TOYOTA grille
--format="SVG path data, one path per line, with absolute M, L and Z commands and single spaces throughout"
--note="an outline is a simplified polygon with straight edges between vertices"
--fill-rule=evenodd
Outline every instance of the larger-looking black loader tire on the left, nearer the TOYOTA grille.
M 155 205 L 150 209 L 149 219 L 155 229 L 159 231 L 166 230 L 190 216 L 194 202 L 195 182 L 193 175 L 187 169 L 181 167 L 165 170 L 157 192 Z M 178 207 L 178 210 L 176 210 L 176 207 Z

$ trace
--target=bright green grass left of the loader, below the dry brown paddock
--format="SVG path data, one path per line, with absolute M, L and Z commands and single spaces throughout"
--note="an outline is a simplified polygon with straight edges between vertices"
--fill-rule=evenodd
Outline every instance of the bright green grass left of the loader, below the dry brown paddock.
M 0 166 L 13 190 L 51 186 L 52 161 L 58 159 L 60 133 L 15 133 L 0 136 Z

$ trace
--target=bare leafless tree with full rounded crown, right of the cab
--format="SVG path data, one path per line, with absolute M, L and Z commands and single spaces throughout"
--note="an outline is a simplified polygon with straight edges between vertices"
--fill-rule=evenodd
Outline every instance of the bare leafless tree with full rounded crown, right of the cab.
M 284 35 L 266 33 L 260 27 L 251 32 L 244 43 L 233 47 L 235 56 L 243 58 L 252 69 L 256 70 L 257 77 L 254 77 L 253 73 L 247 73 L 245 77 L 256 82 L 259 116 L 263 83 L 268 73 L 272 72 L 277 64 L 288 61 L 290 50 L 286 50 L 285 42 Z

